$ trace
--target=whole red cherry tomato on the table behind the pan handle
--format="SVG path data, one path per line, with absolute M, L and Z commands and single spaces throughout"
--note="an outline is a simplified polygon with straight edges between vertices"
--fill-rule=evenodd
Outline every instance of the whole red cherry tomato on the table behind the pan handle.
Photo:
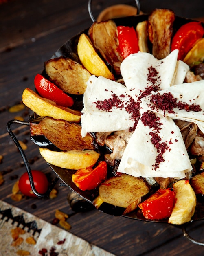
M 48 190 L 48 180 L 46 175 L 37 170 L 32 170 L 31 173 L 33 176 L 35 189 L 38 193 L 44 194 Z M 29 175 L 27 172 L 20 177 L 18 186 L 22 194 L 29 197 L 37 197 L 31 189 Z

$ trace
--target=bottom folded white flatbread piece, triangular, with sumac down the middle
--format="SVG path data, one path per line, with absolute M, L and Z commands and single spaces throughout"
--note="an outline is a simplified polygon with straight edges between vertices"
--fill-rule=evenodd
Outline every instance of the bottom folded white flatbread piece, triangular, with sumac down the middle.
M 143 115 L 143 114 L 142 114 Z M 141 115 L 141 116 L 142 116 Z M 182 179 L 185 173 L 192 170 L 184 141 L 178 126 L 169 117 L 156 114 L 160 117 L 160 143 L 166 143 L 168 148 L 163 153 L 164 162 L 155 168 L 158 152 L 151 143 L 150 132 L 156 132 L 149 126 L 144 126 L 141 118 L 136 130 L 125 148 L 118 167 L 118 172 L 127 173 L 135 177 L 172 177 Z

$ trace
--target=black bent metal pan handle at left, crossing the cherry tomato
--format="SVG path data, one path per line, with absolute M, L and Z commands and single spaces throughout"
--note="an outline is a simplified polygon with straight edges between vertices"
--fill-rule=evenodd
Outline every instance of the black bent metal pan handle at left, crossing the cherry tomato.
M 26 125 L 29 126 L 30 123 L 29 122 L 25 122 L 25 121 L 19 121 L 19 120 L 10 120 L 7 123 L 7 132 L 9 133 L 9 135 L 11 136 L 11 138 L 13 139 L 13 141 L 15 142 L 15 145 L 17 146 L 18 150 L 20 151 L 20 154 L 22 156 L 22 159 L 24 161 L 25 167 L 26 167 L 26 171 L 29 175 L 29 180 L 30 180 L 30 184 L 31 184 L 31 189 L 33 191 L 33 193 L 39 197 L 39 198 L 47 198 L 51 192 L 51 190 L 54 188 L 55 184 L 57 183 L 57 181 L 59 180 L 59 177 L 55 177 L 55 179 L 53 180 L 53 182 L 50 184 L 50 186 L 48 187 L 48 190 L 46 191 L 46 193 L 41 194 L 38 193 L 37 190 L 35 189 L 35 185 L 33 182 L 33 175 L 31 173 L 31 168 L 28 162 L 28 159 L 26 158 L 26 155 L 24 153 L 24 150 L 22 149 L 18 139 L 15 137 L 15 135 L 13 134 L 13 132 L 11 131 L 11 124 L 22 124 L 22 125 Z

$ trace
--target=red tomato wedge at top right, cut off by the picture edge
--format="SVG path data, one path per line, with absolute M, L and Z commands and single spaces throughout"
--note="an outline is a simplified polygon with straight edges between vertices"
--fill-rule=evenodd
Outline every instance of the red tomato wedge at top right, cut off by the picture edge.
M 195 42 L 204 35 L 201 22 L 192 21 L 182 25 L 173 36 L 171 51 L 178 49 L 178 60 L 183 60 Z

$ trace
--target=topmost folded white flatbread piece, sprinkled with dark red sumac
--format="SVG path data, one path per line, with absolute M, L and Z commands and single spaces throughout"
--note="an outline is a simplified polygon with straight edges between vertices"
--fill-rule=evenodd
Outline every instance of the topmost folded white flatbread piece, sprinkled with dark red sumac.
M 138 52 L 125 58 L 121 63 L 121 74 L 136 101 L 147 88 L 163 90 L 175 83 L 183 83 L 189 66 L 177 61 L 177 57 L 178 50 L 162 60 L 147 52 Z

